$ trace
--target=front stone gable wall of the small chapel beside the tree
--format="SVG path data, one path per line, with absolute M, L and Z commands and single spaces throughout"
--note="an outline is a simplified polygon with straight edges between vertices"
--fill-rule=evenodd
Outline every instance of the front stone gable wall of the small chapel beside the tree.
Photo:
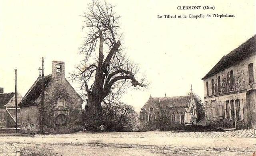
M 44 116 L 47 116 L 47 118 L 45 118 L 45 125 L 48 128 L 54 128 L 54 117 L 56 117 L 57 114 L 55 113 L 56 115 L 54 116 L 53 110 L 59 112 L 57 108 L 57 100 L 59 97 L 65 99 L 65 109 L 68 109 L 68 114 L 64 114 L 67 117 L 68 129 L 79 125 L 81 121 L 82 99 L 80 99 L 76 91 L 65 78 L 59 80 L 53 79 L 45 89 Z

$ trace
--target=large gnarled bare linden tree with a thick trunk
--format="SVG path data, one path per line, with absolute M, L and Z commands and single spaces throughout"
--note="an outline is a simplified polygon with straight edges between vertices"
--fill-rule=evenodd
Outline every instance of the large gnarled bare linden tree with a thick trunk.
M 121 46 L 119 18 L 114 6 L 93 0 L 84 12 L 86 39 L 80 47 L 84 60 L 72 74 L 73 80 L 81 82 L 81 90 L 88 99 L 88 116 L 91 129 L 102 123 L 101 103 L 118 99 L 124 86 L 146 86 L 145 76 L 136 78 L 139 68 L 129 61 Z

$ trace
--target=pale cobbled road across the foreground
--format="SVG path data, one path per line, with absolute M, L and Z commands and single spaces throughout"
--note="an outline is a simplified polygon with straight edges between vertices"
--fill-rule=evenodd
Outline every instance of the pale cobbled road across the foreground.
M 12 135 L 12 134 L 9 134 Z M 3 152 L 13 146 L 24 156 L 247 156 L 256 152 L 255 131 L 116 132 L 64 135 L 0 135 Z M 228 149 L 228 150 L 214 150 Z M 235 149 L 234 149 L 235 148 Z M 0 153 L 2 148 L 0 148 Z M 14 148 L 10 149 L 10 151 Z

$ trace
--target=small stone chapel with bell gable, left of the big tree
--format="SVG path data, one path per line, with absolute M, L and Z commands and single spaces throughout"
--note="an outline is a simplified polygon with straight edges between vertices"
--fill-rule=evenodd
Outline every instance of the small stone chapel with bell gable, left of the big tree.
M 42 77 L 39 76 L 20 102 L 22 133 L 38 133 Z M 65 78 L 65 64 L 52 61 L 52 74 L 44 77 L 44 131 L 68 133 L 80 121 L 82 98 Z

